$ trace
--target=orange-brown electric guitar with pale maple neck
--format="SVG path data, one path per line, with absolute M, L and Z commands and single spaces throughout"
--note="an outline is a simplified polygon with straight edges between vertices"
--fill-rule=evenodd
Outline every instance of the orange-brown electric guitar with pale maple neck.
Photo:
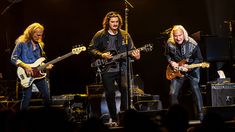
M 178 62 L 178 64 L 179 64 L 178 69 L 173 69 L 173 67 L 170 64 L 168 64 L 167 69 L 166 69 L 166 78 L 168 80 L 172 80 L 176 77 L 184 77 L 184 73 L 182 72 L 182 66 L 185 63 L 186 63 L 186 60 L 182 60 L 182 61 Z M 188 69 L 193 69 L 193 68 L 196 68 L 196 67 L 209 68 L 210 64 L 207 63 L 207 62 L 202 62 L 202 63 L 190 64 L 190 65 L 186 66 L 186 68 L 188 68 Z

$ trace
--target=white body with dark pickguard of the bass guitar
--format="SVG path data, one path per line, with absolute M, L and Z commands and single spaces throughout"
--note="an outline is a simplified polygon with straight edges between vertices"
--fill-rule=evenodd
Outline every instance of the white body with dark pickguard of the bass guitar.
M 42 79 L 46 77 L 46 73 L 43 73 L 37 69 L 37 67 L 40 66 L 43 61 L 45 61 L 45 58 L 41 57 L 37 61 L 35 61 L 33 64 L 28 64 L 30 67 L 33 68 L 32 76 L 28 76 L 24 68 L 22 67 L 17 68 L 17 76 L 20 79 L 20 83 L 24 88 L 31 86 L 34 80 Z

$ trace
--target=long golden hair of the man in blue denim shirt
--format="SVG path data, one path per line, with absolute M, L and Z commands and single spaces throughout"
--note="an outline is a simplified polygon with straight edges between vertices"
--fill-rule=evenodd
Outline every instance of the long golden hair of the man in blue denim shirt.
M 21 42 L 23 42 L 23 43 L 28 43 L 28 42 L 32 39 L 33 34 L 35 33 L 35 30 L 36 30 L 37 28 L 39 28 L 39 29 L 41 29 L 42 31 L 44 31 L 44 27 L 43 27 L 40 23 L 35 22 L 35 23 L 29 25 L 29 26 L 24 30 L 24 33 L 23 33 L 22 35 L 20 35 L 20 36 L 16 39 L 15 44 L 19 44 L 19 43 L 21 43 Z M 42 40 L 39 40 L 39 41 L 40 41 L 40 42 L 39 42 L 40 46 L 43 48 L 45 44 L 43 43 Z

